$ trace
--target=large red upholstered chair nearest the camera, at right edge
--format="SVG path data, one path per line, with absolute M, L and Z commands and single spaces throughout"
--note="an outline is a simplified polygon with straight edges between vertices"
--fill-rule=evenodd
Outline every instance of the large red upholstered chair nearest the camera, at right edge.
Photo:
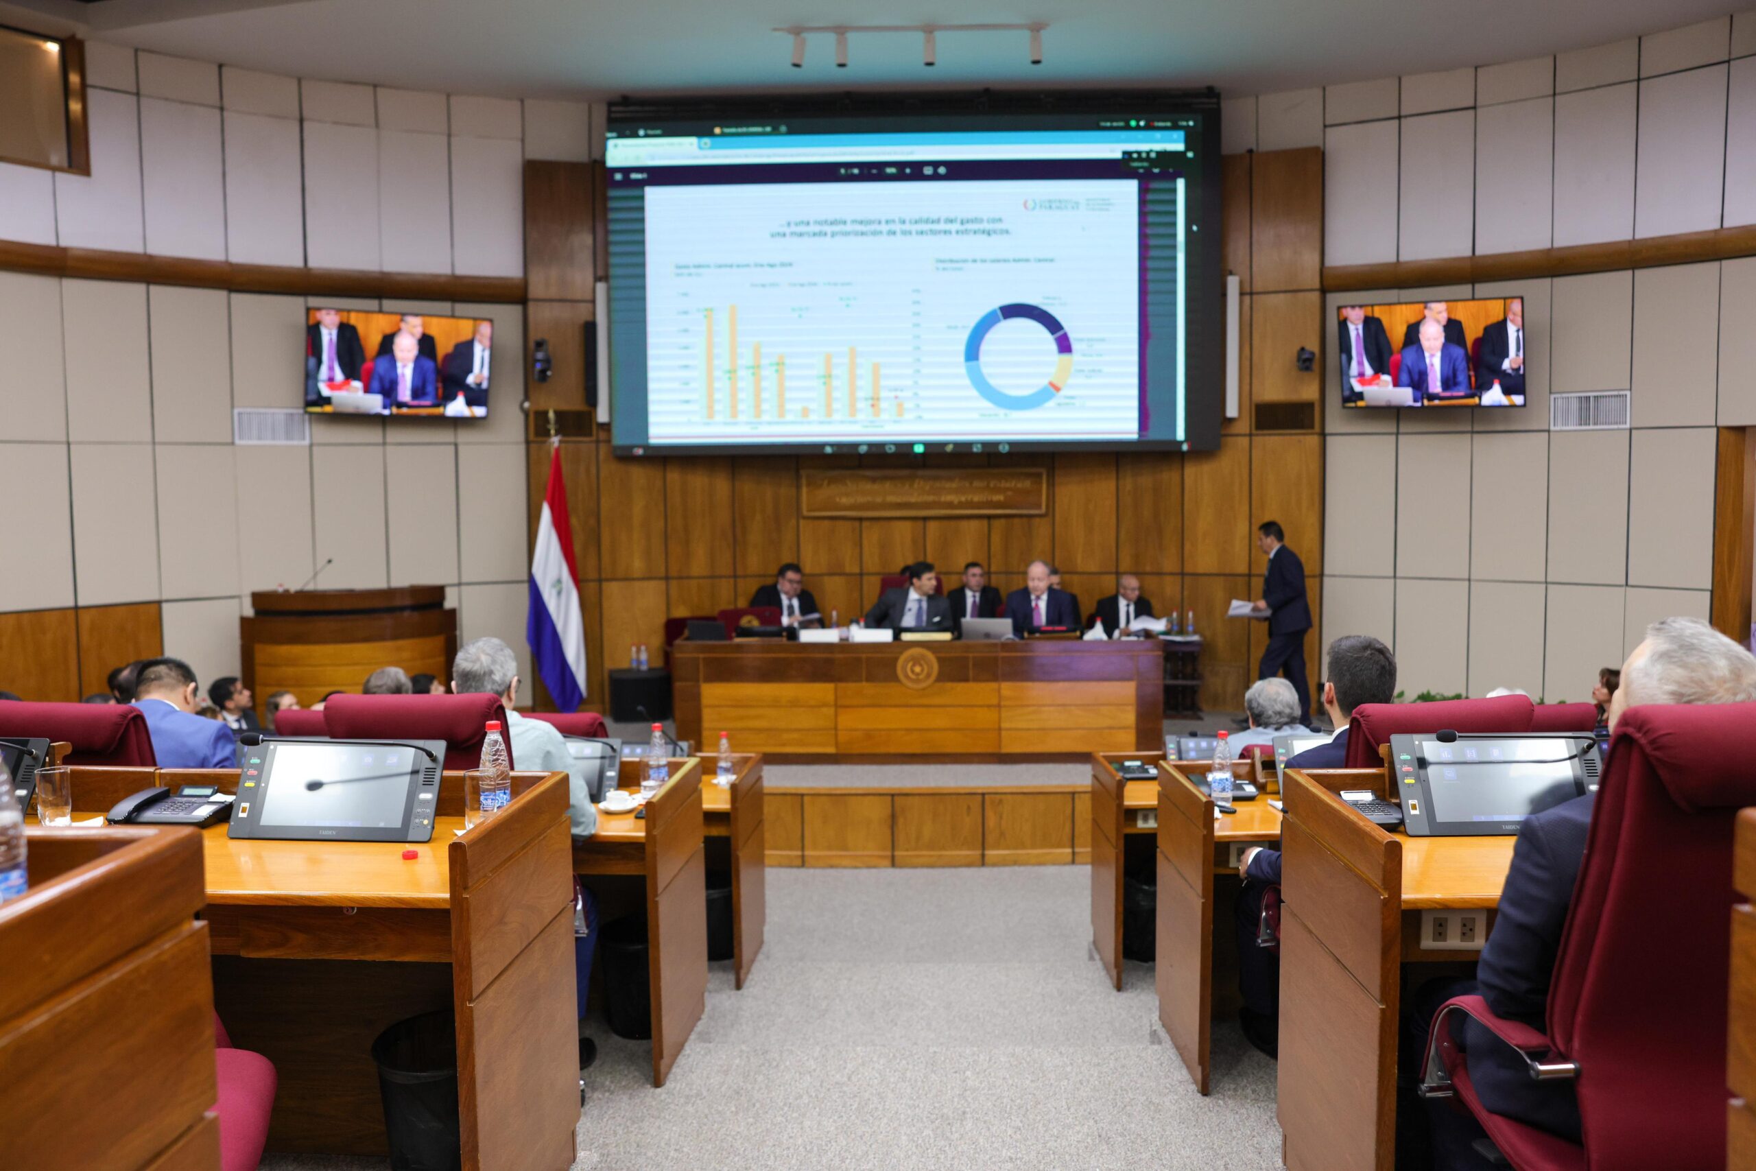
M 1514 1167 L 1726 1166 L 1726 922 L 1733 822 L 1756 804 L 1752 722 L 1756 704 L 1630 708 L 1591 815 L 1545 1029 L 1503 1022 L 1480 997 L 1435 1018 L 1426 1092 L 1452 1090 Z M 1482 1108 L 1452 1041 L 1459 1013 L 1573 1074 L 1582 1146 Z

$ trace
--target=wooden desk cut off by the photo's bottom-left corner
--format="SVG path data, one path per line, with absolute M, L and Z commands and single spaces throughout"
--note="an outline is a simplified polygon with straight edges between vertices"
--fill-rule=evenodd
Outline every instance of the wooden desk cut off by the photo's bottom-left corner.
M 0 1162 L 220 1171 L 197 836 L 25 837 L 30 890 L 0 906 Z

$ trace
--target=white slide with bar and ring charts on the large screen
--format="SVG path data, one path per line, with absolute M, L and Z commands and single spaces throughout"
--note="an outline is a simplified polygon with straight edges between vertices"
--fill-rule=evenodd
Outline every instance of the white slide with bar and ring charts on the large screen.
M 1138 434 L 1133 183 L 776 186 L 648 191 L 653 442 Z

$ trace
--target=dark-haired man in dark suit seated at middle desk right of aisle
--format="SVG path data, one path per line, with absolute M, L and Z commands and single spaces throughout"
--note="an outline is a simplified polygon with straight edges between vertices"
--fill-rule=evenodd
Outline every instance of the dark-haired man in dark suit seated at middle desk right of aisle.
M 1287 760 L 1289 769 L 1340 769 L 1347 760 L 1347 722 L 1354 708 L 1396 699 L 1396 655 L 1371 636 L 1349 634 L 1331 643 L 1328 676 L 1322 706 L 1338 729 L 1335 739 L 1292 757 Z M 1250 1045 L 1273 1057 L 1280 1032 L 1280 957 L 1257 946 L 1256 932 L 1263 918 L 1264 892 L 1280 885 L 1280 850 L 1245 850 L 1238 860 L 1238 874 L 1245 880 L 1234 904 L 1238 990 L 1243 994 L 1238 1022 Z

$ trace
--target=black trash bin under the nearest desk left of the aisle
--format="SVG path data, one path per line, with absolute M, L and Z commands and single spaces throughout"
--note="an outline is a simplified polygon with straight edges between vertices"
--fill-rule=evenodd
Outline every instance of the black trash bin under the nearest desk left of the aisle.
M 392 1171 L 458 1171 L 457 1020 L 425 1013 L 372 1041 Z

